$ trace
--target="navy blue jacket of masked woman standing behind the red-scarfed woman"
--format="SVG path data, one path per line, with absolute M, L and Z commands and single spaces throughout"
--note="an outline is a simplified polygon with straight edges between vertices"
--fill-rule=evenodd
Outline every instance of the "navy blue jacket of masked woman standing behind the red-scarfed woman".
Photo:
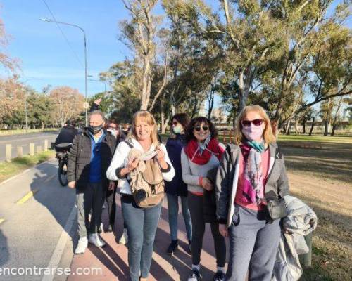
M 187 196 L 187 184 L 182 181 L 181 150 L 186 144 L 184 135 L 177 134 L 175 138 L 168 138 L 166 150 L 175 169 L 172 181 L 165 181 L 165 192 L 177 196 Z

